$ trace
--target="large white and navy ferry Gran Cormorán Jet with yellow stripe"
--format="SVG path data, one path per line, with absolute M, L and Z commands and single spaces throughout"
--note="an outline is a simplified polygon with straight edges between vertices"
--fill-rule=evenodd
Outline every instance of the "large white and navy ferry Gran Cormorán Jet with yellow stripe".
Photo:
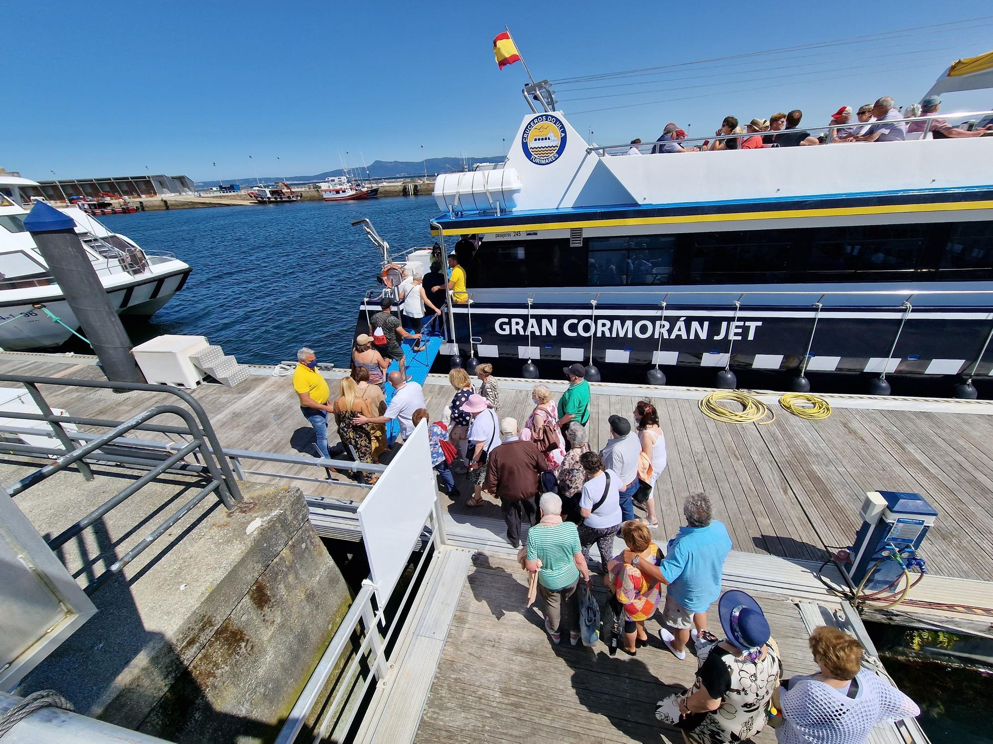
M 993 139 L 626 157 L 584 141 L 541 83 L 524 98 L 502 163 L 435 184 L 442 250 L 475 246 L 469 302 L 449 304 L 456 363 L 653 384 L 696 368 L 719 387 L 763 370 L 797 391 L 807 372 L 871 373 L 882 394 L 887 375 L 974 395 L 993 374 Z M 807 129 L 830 143 L 836 127 Z

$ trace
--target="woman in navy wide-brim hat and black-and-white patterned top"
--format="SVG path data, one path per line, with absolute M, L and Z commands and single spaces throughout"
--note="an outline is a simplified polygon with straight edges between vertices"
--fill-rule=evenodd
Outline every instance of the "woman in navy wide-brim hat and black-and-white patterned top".
M 721 595 L 717 613 L 724 639 L 712 636 L 706 644 L 701 635 L 693 686 L 659 701 L 655 711 L 692 744 L 723 744 L 762 731 L 782 675 L 779 648 L 755 598 L 731 589 Z

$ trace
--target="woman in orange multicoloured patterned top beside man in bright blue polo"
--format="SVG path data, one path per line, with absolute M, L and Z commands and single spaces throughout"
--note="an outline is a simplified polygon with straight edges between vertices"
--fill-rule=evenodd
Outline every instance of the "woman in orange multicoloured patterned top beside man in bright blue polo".
M 651 541 L 651 531 L 640 522 L 632 520 L 621 525 L 621 537 L 628 550 L 638 556 L 638 562 L 650 561 L 658 565 L 662 552 Z M 604 583 L 614 590 L 614 596 L 624 607 L 623 650 L 635 656 L 638 646 L 648 642 L 644 621 L 655 614 L 661 597 L 661 583 L 641 575 L 638 567 L 624 561 L 624 553 L 611 558 L 607 564 Z

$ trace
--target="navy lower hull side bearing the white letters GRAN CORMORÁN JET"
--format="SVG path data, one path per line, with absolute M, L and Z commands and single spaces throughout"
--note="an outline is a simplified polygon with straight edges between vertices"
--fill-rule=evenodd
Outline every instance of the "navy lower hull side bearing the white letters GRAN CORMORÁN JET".
M 359 311 L 356 332 L 368 332 L 366 314 L 377 310 Z M 598 305 L 594 313 L 589 304 L 534 305 L 529 311 L 526 304 L 474 302 L 471 327 L 480 339 L 473 348 L 480 360 L 530 359 L 545 374 L 560 377 L 563 366 L 590 363 L 592 341 L 593 361 L 610 379 L 639 383 L 657 364 L 663 371 L 696 368 L 700 382 L 709 385 L 714 372 L 725 367 L 795 374 L 804 358 L 809 372 L 988 376 L 993 348 L 983 349 L 991 312 L 993 305 L 918 306 L 905 321 L 905 309 L 892 305 L 819 313 L 810 305 L 737 311 L 727 305 L 670 305 L 663 316 L 659 307 L 644 305 Z M 454 318 L 465 358 L 469 310 L 457 306 Z M 446 370 L 447 364 L 441 359 Z

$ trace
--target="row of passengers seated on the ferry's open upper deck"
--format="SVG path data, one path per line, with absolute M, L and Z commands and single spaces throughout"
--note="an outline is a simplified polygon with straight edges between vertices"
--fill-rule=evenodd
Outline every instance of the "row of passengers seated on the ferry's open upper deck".
M 662 134 L 655 140 L 650 153 L 694 153 L 720 150 L 753 150 L 771 147 L 800 147 L 825 143 L 852 142 L 899 142 L 908 134 L 929 132 L 933 139 L 955 139 L 962 137 L 982 137 L 993 130 L 993 124 L 967 130 L 953 127 L 947 120 L 937 116 L 941 100 L 929 95 L 920 104 L 906 106 L 902 112 L 891 96 L 883 96 L 875 103 L 859 106 L 853 119 L 852 107 L 841 106 L 831 114 L 829 126 L 831 136 L 826 133 L 812 135 L 800 127 L 803 112 L 793 109 L 788 113 L 777 112 L 769 119 L 752 119 L 744 128 L 738 119 L 726 116 L 721 126 L 714 132 L 713 141 L 704 141 L 697 147 L 686 147 L 685 130 L 675 123 L 663 127 Z M 900 121 L 915 117 L 926 117 L 919 121 Z M 641 141 L 633 140 L 625 155 L 641 155 Z

